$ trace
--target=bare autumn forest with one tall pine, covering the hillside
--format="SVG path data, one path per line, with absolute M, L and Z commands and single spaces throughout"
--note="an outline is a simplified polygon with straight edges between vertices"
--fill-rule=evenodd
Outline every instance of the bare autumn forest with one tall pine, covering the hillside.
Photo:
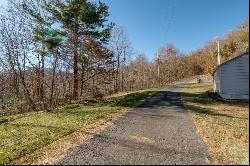
M 108 20 L 101 2 L 9 0 L 1 10 L 0 116 L 94 102 L 211 75 L 217 67 L 217 40 L 189 54 L 168 43 L 153 61 L 135 55 L 126 29 Z M 248 49 L 249 23 L 218 40 L 222 62 L 240 55 Z

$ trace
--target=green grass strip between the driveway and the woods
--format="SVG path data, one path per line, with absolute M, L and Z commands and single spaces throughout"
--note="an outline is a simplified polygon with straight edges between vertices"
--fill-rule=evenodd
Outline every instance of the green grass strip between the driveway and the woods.
M 64 136 L 135 106 L 157 91 L 130 93 L 91 106 L 75 104 L 51 112 L 5 117 L 5 122 L 0 124 L 0 164 L 13 164 Z

